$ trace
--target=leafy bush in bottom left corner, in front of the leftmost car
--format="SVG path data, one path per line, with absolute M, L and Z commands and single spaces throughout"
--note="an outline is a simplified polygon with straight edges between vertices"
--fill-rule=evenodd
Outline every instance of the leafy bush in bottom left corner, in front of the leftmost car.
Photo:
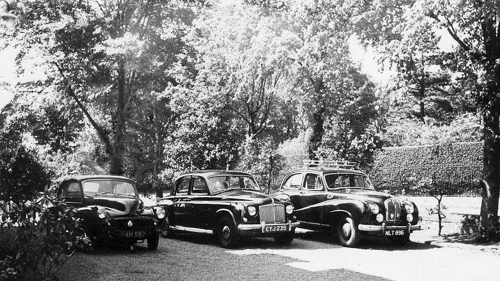
M 91 246 L 77 210 L 52 195 L 41 192 L 30 201 L 7 201 L 1 210 L 1 240 L 13 237 L 0 251 L 6 253 L 0 274 L 7 279 L 54 280 L 75 250 Z

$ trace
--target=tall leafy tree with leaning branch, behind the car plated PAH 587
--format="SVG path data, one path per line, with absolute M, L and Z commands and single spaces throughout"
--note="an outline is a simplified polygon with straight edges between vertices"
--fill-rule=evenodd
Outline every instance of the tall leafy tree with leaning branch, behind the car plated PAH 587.
M 174 81 L 165 71 L 179 56 L 191 55 L 184 37 L 194 8 L 183 1 L 29 1 L 19 18 L 28 34 L 20 61 L 46 60 L 45 76 L 26 86 L 55 85 L 73 100 L 99 135 L 109 172 L 123 174 L 130 113 L 142 93 Z

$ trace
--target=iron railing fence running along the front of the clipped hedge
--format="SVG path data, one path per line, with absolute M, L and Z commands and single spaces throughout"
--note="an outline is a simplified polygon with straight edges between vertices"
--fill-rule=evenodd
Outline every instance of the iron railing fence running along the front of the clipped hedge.
M 481 195 L 478 164 L 374 167 L 368 175 L 376 190 L 393 195 Z

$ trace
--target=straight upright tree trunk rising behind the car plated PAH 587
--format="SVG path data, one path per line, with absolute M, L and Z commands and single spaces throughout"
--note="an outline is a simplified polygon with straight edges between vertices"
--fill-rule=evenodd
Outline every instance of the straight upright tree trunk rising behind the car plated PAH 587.
M 113 153 L 109 163 L 109 173 L 122 175 L 124 173 L 123 154 L 125 152 L 124 130 L 125 130 L 125 63 L 118 64 L 118 93 L 116 98 L 116 120 L 114 123 Z

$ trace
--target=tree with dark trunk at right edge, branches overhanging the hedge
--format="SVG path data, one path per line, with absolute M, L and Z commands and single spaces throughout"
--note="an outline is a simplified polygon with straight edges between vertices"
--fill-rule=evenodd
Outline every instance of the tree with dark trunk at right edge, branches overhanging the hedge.
M 356 18 L 362 40 L 386 57 L 398 53 L 438 52 L 441 30 L 455 42 L 458 63 L 478 73 L 473 90 L 483 121 L 481 226 L 498 224 L 500 184 L 500 26 L 496 1 L 372 0 Z M 390 23 L 390 24 L 387 24 Z M 444 36 L 444 35 L 443 35 Z M 473 75 L 470 75 L 473 78 Z

